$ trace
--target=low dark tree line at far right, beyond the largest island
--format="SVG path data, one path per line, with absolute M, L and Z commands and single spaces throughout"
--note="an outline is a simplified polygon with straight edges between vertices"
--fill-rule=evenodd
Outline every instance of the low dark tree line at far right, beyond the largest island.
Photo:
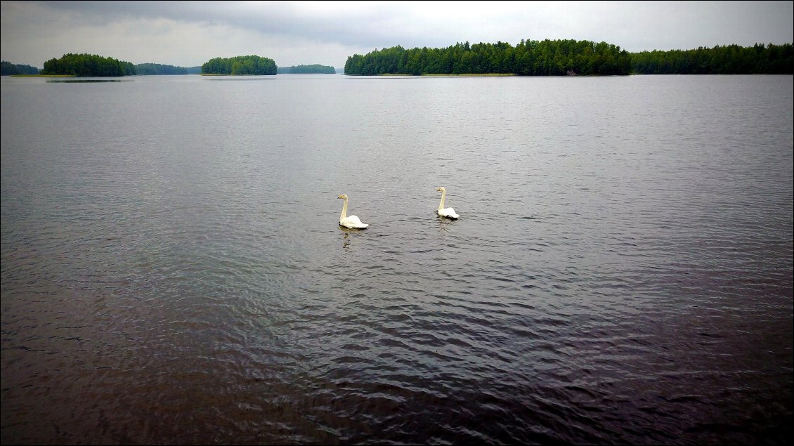
M 792 44 L 726 45 L 632 53 L 631 68 L 640 75 L 791 75 L 792 56 Z

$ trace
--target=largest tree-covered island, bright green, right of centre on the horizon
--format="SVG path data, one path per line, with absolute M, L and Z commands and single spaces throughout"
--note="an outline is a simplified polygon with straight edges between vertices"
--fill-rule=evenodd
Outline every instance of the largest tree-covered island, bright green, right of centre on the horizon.
M 515 48 L 501 41 L 448 48 L 396 46 L 349 56 L 345 63 L 346 75 L 629 75 L 630 70 L 628 52 L 589 40 L 521 40 Z

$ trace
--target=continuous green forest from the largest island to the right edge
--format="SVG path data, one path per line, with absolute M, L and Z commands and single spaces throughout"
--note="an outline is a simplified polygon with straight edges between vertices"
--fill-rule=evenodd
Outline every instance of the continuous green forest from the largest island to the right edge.
M 629 53 L 589 40 L 522 40 L 447 48 L 401 46 L 349 56 L 345 75 L 687 75 L 792 74 L 792 44 Z

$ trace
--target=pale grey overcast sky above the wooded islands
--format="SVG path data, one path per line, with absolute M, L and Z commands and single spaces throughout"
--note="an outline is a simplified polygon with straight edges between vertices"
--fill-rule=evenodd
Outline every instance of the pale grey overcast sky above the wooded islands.
M 195 67 L 257 55 L 344 67 L 402 45 L 592 40 L 629 52 L 790 44 L 794 2 L 0 2 L 2 60 L 68 52 Z

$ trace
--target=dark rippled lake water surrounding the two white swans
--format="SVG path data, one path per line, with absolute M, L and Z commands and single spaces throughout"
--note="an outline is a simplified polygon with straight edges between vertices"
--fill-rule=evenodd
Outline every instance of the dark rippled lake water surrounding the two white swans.
M 2 78 L 2 444 L 792 440 L 792 76 L 119 80 Z

